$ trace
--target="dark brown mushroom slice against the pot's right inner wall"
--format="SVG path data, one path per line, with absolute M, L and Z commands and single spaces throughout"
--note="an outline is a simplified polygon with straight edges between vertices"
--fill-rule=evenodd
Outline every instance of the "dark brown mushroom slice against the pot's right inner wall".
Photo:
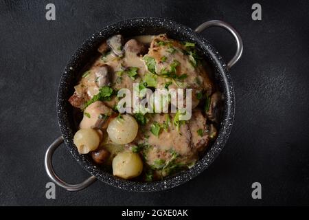
M 210 97 L 209 109 L 206 113 L 207 118 L 211 122 L 218 123 L 220 120 L 220 115 L 222 111 L 222 94 L 219 91 L 216 91 Z

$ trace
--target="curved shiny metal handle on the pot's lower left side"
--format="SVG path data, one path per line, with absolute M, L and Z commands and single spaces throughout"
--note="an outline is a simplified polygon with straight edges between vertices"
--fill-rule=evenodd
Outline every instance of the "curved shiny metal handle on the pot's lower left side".
M 97 180 L 97 178 L 95 178 L 94 176 L 89 177 L 85 181 L 82 181 L 80 184 L 68 184 L 56 175 L 52 164 L 52 157 L 56 148 L 58 148 L 58 146 L 60 146 L 60 144 L 62 143 L 63 143 L 63 137 L 60 136 L 52 144 L 50 144 L 45 153 L 44 165 L 49 178 L 52 179 L 52 181 L 54 181 L 55 184 L 57 184 L 62 188 L 65 188 L 68 191 L 82 190 L 87 186 L 93 184 L 93 182 Z

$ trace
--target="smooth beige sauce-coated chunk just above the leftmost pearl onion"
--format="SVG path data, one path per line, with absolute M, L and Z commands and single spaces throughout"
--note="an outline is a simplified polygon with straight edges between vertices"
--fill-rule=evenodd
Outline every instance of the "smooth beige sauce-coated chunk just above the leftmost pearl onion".
M 84 118 L 80 122 L 80 129 L 106 129 L 108 116 L 113 113 L 113 110 L 106 107 L 103 102 L 93 102 L 84 109 Z

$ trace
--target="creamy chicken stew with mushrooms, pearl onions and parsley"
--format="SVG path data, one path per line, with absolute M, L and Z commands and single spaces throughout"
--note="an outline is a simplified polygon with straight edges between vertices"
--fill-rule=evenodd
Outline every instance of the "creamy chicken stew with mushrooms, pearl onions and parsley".
M 123 88 L 132 94 L 136 89 L 192 89 L 192 117 L 181 120 L 181 109 L 120 113 L 122 99 L 117 91 Z M 82 114 L 74 144 L 98 166 L 110 166 L 116 177 L 155 181 L 191 168 L 218 134 L 222 94 L 207 63 L 194 43 L 169 39 L 166 34 L 111 36 L 98 47 L 98 57 L 82 72 L 74 89 L 69 102 Z M 185 95 L 176 98 L 185 99 Z M 152 108 L 169 108 L 170 99 L 154 102 Z

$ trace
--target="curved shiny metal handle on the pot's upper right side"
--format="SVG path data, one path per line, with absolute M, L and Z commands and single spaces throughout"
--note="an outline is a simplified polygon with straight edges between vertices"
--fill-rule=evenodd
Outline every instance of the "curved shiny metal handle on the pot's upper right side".
M 227 63 L 227 68 L 231 69 L 231 67 L 233 67 L 233 65 L 235 65 L 237 61 L 240 59 L 240 57 L 242 56 L 242 50 L 244 47 L 242 45 L 242 38 L 240 37 L 240 34 L 238 34 L 238 32 L 229 23 L 225 23 L 224 21 L 218 21 L 218 20 L 206 21 L 205 23 L 202 23 L 201 25 L 199 25 L 195 29 L 195 31 L 198 33 L 201 33 L 203 32 L 203 30 L 210 28 L 210 27 L 225 28 L 225 30 L 228 30 L 233 35 L 233 37 L 236 39 L 236 44 L 237 44 L 236 54 L 233 56 L 231 61 Z

